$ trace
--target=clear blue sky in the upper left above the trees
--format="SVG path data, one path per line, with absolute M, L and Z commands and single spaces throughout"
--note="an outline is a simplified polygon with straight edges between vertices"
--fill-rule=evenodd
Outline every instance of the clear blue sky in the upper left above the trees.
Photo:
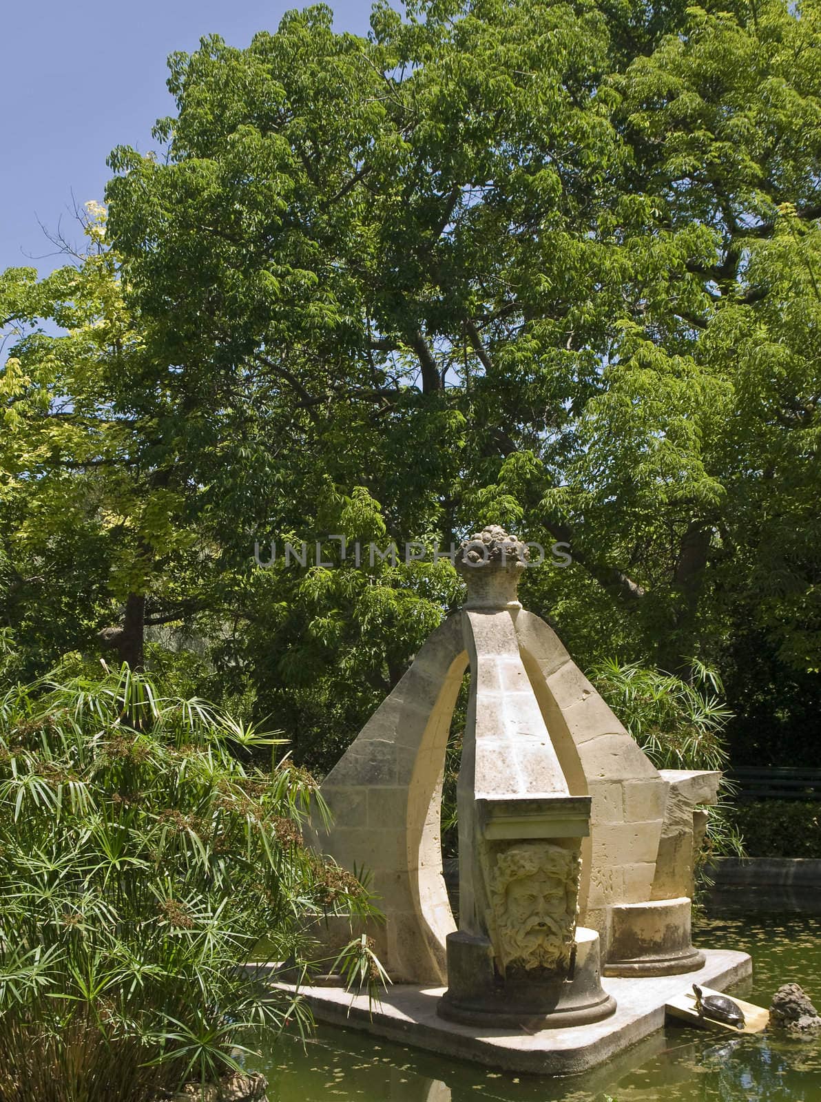
M 0 270 L 42 273 L 64 260 L 44 237 L 77 239 L 76 202 L 102 199 L 115 145 L 151 149 L 151 127 L 170 115 L 165 58 L 220 34 L 246 46 L 284 11 L 261 0 L 8 0 L 0 44 Z M 332 3 L 338 30 L 365 33 L 370 0 Z

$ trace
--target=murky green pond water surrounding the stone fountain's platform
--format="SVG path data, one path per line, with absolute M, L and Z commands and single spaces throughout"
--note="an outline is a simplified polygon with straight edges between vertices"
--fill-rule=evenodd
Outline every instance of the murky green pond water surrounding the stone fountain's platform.
M 768 1006 L 782 983 L 800 983 L 821 1009 L 821 916 L 706 918 L 696 944 L 741 949 L 754 961 L 752 986 L 736 993 Z M 270 1102 L 821 1102 L 821 1040 L 776 1040 L 668 1026 L 582 1076 L 545 1079 L 486 1070 L 353 1029 L 320 1026 L 266 1044 L 249 1066 L 264 1072 Z

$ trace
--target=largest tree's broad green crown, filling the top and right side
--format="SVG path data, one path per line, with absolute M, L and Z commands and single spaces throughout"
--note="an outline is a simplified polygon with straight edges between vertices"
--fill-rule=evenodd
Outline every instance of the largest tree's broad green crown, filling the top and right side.
M 497 519 L 571 543 L 532 606 L 581 612 L 585 663 L 732 674 L 752 620 L 817 669 L 818 14 L 380 4 L 363 39 L 316 6 L 175 55 L 110 227 L 260 486 L 237 521 L 316 525 L 320 480 L 400 541 Z

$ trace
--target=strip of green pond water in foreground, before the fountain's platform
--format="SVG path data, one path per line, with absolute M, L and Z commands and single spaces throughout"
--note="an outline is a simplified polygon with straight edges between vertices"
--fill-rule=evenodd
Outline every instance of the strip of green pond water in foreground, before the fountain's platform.
M 352 1042 L 352 1036 L 354 1038 Z M 648 1038 L 619 1060 L 568 1079 L 488 1071 L 321 1027 L 303 1049 L 282 1040 L 255 1061 L 270 1102 L 821 1102 L 821 1044 L 766 1035 L 715 1044 L 687 1028 Z

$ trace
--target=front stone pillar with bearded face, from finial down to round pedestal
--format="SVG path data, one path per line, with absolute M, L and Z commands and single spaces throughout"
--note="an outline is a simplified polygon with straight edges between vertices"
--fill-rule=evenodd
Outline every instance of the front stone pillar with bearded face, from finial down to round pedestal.
M 590 797 L 570 793 L 519 651 L 526 557 L 493 527 L 456 562 L 473 676 L 457 786 L 460 930 L 447 937 L 439 1009 L 460 1022 L 572 1025 L 615 1003 L 598 982 L 598 936 L 576 930 Z

